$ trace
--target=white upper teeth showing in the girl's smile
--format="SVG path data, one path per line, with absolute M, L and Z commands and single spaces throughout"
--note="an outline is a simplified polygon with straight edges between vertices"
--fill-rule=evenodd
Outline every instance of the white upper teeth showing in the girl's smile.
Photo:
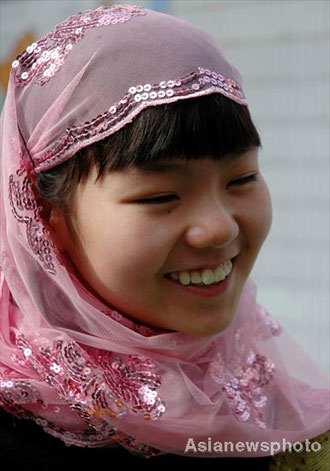
M 170 277 L 173 280 L 179 281 L 183 285 L 200 284 L 210 285 L 211 283 L 217 283 L 218 281 L 224 280 L 227 275 L 232 270 L 232 263 L 228 260 L 225 263 L 222 263 L 214 270 L 211 268 L 205 268 L 204 270 L 193 270 L 188 271 L 179 271 L 170 274 Z

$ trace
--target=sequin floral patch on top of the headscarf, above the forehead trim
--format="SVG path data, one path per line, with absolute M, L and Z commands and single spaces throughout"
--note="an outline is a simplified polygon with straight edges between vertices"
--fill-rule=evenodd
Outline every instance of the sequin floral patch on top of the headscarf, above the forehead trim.
M 24 87 L 33 77 L 37 79 L 35 83 L 44 85 L 62 67 L 66 56 L 84 37 L 86 30 L 125 23 L 140 15 L 146 15 L 146 12 L 138 6 L 114 5 L 70 16 L 17 56 L 12 63 L 16 85 Z

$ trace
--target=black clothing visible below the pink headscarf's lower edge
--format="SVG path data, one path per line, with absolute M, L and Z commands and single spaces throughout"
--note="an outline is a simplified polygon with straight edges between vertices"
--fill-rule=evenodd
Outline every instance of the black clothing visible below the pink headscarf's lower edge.
M 50 460 L 51 457 L 51 460 Z M 195 458 L 166 454 L 150 459 L 134 456 L 122 447 L 118 448 L 83 448 L 66 446 L 61 440 L 43 431 L 36 423 L 14 417 L 0 407 L 0 462 L 3 469 L 24 469 L 25 471 L 47 469 L 58 471 L 65 462 L 79 464 L 84 462 L 84 468 L 95 467 L 96 462 L 114 460 L 123 467 L 144 471 L 167 470 L 177 466 L 182 469 L 198 464 L 207 466 L 208 470 L 245 469 L 253 467 L 254 471 L 268 471 L 270 457 L 264 458 Z M 6 464 L 8 468 L 6 468 Z M 180 466 L 181 465 L 181 466 Z M 2 469 L 2 468 L 1 468 Z M 284 468 L 285 469 L 285 468 Z M 283 468 L 274 468 L 275 471 Z M 314 469 L 313 469 L 314 471 Z M 322 470 L 324 471 L 324 470 Z

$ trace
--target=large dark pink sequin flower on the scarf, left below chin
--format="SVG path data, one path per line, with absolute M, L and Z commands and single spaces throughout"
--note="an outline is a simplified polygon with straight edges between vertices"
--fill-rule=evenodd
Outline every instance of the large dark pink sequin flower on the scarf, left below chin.
M 75 342 L 55 341 L 36 349 L 18 338 L 25 361 L 65 399 L 89 425 L 104 426 L 129 411 L 157 420 L 165 405 L 158 396 L 160 376 L 148 358 L 82 349 Z

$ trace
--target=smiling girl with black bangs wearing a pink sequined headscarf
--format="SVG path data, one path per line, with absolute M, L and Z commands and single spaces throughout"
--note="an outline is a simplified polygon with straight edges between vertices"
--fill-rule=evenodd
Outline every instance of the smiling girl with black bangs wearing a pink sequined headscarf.
M 137 6 L 74 15 L 13 62 L 1 133 L 5 411 L 153 463 L 261 463 L 327 431 L 326 378 L 249 279 L 271 202 L 210 36 Z

